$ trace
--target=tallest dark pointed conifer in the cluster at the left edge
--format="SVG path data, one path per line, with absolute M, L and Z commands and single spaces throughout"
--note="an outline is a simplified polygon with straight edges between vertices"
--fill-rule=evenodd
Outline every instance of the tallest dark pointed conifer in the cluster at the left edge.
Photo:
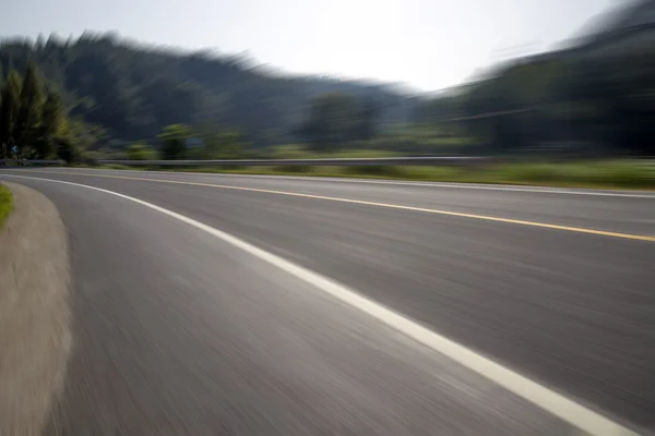
M 39 126 L 41 121 L 43 92 L 36 65 L 33 62 L 27 64 L 23 87 L 21 88 L 21 108 L 16 117 L 16 147 L 19 157 L 22 158 L 24 150 L 34 145 L 39 137 Z

